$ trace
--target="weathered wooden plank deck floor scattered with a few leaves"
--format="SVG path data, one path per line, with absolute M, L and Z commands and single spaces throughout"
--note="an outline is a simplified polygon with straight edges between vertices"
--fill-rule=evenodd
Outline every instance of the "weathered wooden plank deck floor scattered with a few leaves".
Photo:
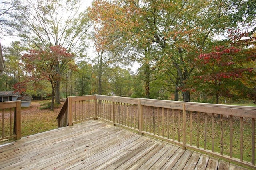
M 0 169 L 244 169 L 92 120 L 0 146 Z

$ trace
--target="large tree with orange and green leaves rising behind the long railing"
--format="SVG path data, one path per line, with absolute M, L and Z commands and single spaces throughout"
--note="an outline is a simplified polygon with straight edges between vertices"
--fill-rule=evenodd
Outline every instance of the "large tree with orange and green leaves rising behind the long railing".
M 176 86 L 184 88 L 194 70 L 190 61 L 204 50 L 212 36 L 228 25 L 228 14 L 233 10 L 229 3 L 218 0 L 108 3 L 98 0 L 94 2 L 92 12 L 101 21 L 101 29 L 114 33 L 110 29 L 114 25 L 115 33 L 122 33 L 134 47 L 152 43 L 161 53 L 157 56 L 157 64 L 161 68 L 172 65 L 178 77 Z M 108 8 L 104 9 L 104 6 Z M 182 93 L 183 100 L 190 101 L 189 91 L 182 90 Z

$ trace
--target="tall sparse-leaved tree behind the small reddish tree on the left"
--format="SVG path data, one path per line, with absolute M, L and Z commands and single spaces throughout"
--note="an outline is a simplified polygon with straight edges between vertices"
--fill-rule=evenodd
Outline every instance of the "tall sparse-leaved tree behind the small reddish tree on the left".
M 80 12 L 80 0 L 27 0 L 27 9 L 12 14 L 12 28 L 33 49 L 51 46 L 66 48 L 67 53 L 83 57 L 88 47 L 89 19 Z M 60 84 L 56 84 L 56 102 L 60 103 Z

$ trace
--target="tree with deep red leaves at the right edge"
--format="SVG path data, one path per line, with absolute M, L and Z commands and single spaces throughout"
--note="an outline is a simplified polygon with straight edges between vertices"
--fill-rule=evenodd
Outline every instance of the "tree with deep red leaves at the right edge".
M 256 59 L 255 40 L 241 37 L 244 34 L 238 37 L 232 35 L 226 46 L 214 47 L 212 52 L 202 53 L 195 59 L 198 72 L 194 81 L 189 83 L 192 91 L 199 90 L 215 96 L 216 104 L 221 96 L 234 100 L 255 98 L 254 86 L 248 83 L 255 83 L 256 70 L 248 64 Z

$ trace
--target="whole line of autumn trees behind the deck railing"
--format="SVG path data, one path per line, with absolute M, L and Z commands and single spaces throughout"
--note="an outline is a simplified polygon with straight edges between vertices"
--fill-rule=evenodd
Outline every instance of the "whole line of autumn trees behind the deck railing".
M 50 94 L 52 104 L 86 94 L 256 99 L 254 0 L 95 0 L 86 9 L 77 0 L 8 5 L 13 10 L 1 10 L 8 16 L 2 33 L 22 41 L 4 48 L 0 90 Z M 122 69 L 133 62 L 140 64 L 136 72 Z

